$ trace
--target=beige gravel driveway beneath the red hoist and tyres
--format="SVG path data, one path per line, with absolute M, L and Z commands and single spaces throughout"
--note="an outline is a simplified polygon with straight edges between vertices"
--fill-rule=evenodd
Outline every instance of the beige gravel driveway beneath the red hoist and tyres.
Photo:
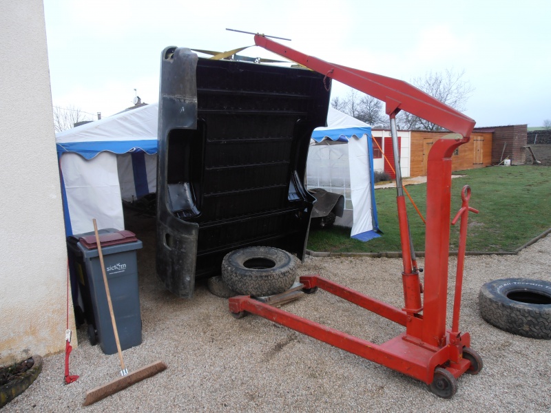
M 125 363 L 130 372 L 157 360 L 169 368 L 82 407 L 85 392 L 116 379 L 119 370 L 117 355 L 90 346 L 83 326 L 70 358 L 70 372 L 80 379 L 64 385 L 64 354 L 45 357 L 37 381 L 4 412 L 551 411 L 551 341 L 494 328 L 481 319 L 477 304 L 480 287 L 492 279 L 551 281 L 551 235 L 519 255 L 466 258 L 460 328 L 470 332 L 484 370 L 460 377 L 457 394 L 444 400 L 420 381 L 260 317 L 234 319 L 227 300 L 211 295 L 204 284 L 196 286 L 193 299 L 171 295 L 154 273 L 154 220 L 134 226 L 127 220 L 127 226 L 144 241 L 138 253 L 143 343 L 124 351 Z M 455 264 L 450 258 L 448 297 Z M 319 273 L 401 308 L 401 266 L 400 259 L 306 257 L 299 271 Z M 403 330 L 322 290 L 284 309 L 375 343 Z

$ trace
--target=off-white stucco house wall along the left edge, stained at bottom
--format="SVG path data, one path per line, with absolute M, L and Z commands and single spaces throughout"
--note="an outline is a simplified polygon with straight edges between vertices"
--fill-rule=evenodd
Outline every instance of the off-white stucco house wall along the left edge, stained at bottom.
M 0 1 L 0 39 L 3 365 L 64 350 L 67 252 L 42 0 Z

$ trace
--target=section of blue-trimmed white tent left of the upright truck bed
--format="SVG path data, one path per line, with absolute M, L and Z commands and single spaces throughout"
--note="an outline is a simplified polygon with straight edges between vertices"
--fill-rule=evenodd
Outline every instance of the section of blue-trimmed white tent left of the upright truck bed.
M 156 191 L 158 105 L 56 134 L 65 233 L 124 229 L 121 200 Z

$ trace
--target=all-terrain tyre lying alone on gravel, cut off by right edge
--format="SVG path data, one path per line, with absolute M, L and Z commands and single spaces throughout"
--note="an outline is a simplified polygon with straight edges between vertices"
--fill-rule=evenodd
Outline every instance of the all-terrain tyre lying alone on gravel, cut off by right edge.
M 512 334 L 551 339 L 551 282 L 540 279 L 496 279 L 482 286 L 480 314 Z

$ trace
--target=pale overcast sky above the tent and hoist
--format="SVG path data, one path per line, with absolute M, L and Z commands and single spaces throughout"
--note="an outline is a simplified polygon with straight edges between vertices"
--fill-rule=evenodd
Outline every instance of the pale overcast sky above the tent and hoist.
M 404 81 L 464 70 L 475 88 L 465 113 L 479 127 L 551 118 L 548 0 L 44 0 L 44 8 L 53 103 L 94 115 L 131 106 L 134 89 L 156 102 L 166 46 L 254 44 L 250 34 L 225 30 L 233 28 Z M 260 47 L 240 54 L 275 58 Z M 333 96 L 346 96 L 333 85 Z

